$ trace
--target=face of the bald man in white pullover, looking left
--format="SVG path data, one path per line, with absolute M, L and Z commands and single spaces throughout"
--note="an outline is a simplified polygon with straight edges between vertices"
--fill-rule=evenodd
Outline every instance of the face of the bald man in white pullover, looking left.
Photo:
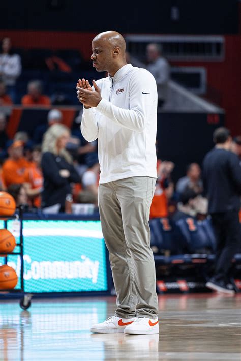
M 107 41 L 92 41 L 92 63 L 98 72 L 108 71 L 111 69 L 113 61 L 113 49 Z

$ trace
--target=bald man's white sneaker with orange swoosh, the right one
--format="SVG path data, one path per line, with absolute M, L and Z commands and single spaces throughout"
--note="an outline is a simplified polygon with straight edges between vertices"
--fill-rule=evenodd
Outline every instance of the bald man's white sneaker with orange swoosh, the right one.
M 134 322 L 125 328 L 125 334 L 149 335 L 159 333 L 158 318 L 136 317 Z

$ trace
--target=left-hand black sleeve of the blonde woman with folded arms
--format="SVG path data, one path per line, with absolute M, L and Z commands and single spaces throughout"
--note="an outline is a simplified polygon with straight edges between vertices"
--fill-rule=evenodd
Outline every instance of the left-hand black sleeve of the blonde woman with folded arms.
M 47 177 L 56 186 L 63 186 L 68 184 L 68 179 L 63 178 L 59 174 L 59 168 L 55 162 L 54 155 L 50 152 L 46 152 L 42 156 L 41 166 L 43 170 L 44 178 Z

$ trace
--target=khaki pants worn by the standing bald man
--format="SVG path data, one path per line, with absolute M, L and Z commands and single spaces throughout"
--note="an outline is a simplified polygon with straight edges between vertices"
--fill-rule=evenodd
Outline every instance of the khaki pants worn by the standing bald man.
M 143 176 L 99 185 L 102 232 L 117 294 L 116 316 L 155 318 L 156 272 L 149 212 L 156 179 Z

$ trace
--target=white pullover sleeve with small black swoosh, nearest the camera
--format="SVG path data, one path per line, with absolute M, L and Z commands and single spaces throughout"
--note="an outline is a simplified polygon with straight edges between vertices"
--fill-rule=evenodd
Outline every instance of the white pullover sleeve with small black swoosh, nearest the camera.
M 129 86 L 130 109 L 120 108 L 106 99 L 96 109 L 120 127 L 141 133 L 146 126 L 150 107 L 157 107 L 157 85 L 145 69 L 135 71 Z

